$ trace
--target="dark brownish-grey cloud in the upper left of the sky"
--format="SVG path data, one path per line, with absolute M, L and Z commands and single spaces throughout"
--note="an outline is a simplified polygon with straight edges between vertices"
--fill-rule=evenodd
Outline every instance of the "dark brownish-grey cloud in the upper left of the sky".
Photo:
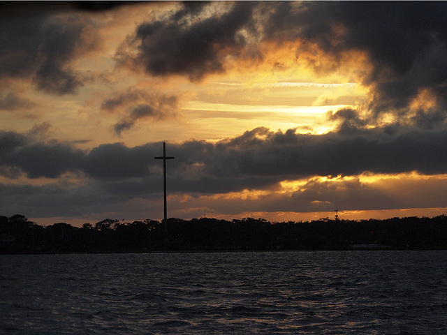
M 75 14 L 11 15 L 2 17 L 0 30 L 0 75 L 32 77 L 50 94 L 72 94 L 82 86 L 85 78 L 71 61 L 96 47 L 90 22 Z

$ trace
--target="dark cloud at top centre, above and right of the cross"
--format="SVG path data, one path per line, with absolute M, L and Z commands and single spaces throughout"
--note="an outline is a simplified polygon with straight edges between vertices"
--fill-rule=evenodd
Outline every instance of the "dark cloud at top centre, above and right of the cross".
M 207 3 L 193 3 L 181 8 L 170 20 L 140 24 L 133 43 L 138 45 L 138 57 L 152 75 L 186 75 L 200 80 L 209 73 L 223 72 L 224 58 L 238 52 L 245 40 L 238 34 L 251 20 L 255 3 L 235 2 L 228 13 L 196 20 L 182 20 L 196 15 Z M 226 50 L 223 52 L 223 50 Z M 223 52 L 223 54 L 220 54 Z M 126 61 L 126 54 L 117 54 Z

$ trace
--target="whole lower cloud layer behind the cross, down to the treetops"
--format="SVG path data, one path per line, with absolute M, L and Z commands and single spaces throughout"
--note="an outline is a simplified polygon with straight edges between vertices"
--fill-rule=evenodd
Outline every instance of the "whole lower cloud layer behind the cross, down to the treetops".
M 191 216 L 201 214 L 198 208 L 237 215 L 442 207 L 447 179 L 437 176 L 447 172 L 447 159 L 439 154 L 446 144 L 445 130 L 390 136 L 374 129 L 353 139 L 340 133 L 300 135 L 267 128 L 215 144 L 168 144 L 167 154 L 175 156 L 168 164 L 170 206 L 179 215 L 184 208 L 183 215 Z M 3 132 L 0 173 L 10 180 L 26 174 L 31 180 L 50 181 L 39 186 L 3 184 L 1 208 L 27 209 L 32 216 L 76 216 L 112 213 L 117 206 L 141 211 L 133 207 L 141 202 L 143 212 L 156 211 L 162 168 L 154 156 L 161 148 L 160 142 L 136 147 L 115 143 L 81 151 L 67 143 L 36 142 L 29 135 Z M 426 177 L 413 178 L 413 171 Z M 361 181 L 364 172 L 409 177 L 371 184 Z M 300 186 L 284 192 L 280 184 L 287 180 L 300 181 Z

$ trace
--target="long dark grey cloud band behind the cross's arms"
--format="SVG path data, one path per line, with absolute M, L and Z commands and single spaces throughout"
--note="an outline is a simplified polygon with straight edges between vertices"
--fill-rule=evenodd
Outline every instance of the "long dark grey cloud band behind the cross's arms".
M 447 130 L 360 129 L 356 133 L 302 135 L 256 128 L 215 144 L 189 140 L 168 144 L 171 188 L 175 191 L 222 193 L 272 189 L 279 181 L 312 176 L 353 176 L 363 172 L 398 174 L 447 173 Z M 59 142 L 35 142 L 31 137 L 1 133 L 0 167 L 5 175 L 56 178 L 65 172 L 123 182 L 160 176 L 161 143 L 138 147 L 102 144 L 81 151 Z M 159 177 L 158 177 L 159 178 Z

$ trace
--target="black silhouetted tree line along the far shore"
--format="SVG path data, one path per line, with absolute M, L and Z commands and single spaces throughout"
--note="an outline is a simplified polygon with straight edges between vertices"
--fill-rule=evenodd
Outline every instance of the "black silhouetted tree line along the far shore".
M 112 253 L 152 251 L 447 249 L 447 216 L 270 223 L 193 218 L 124 222 L 107 218 L 81 228 L 42 226 L 25 216 L 0 216 L 0 253 Z

